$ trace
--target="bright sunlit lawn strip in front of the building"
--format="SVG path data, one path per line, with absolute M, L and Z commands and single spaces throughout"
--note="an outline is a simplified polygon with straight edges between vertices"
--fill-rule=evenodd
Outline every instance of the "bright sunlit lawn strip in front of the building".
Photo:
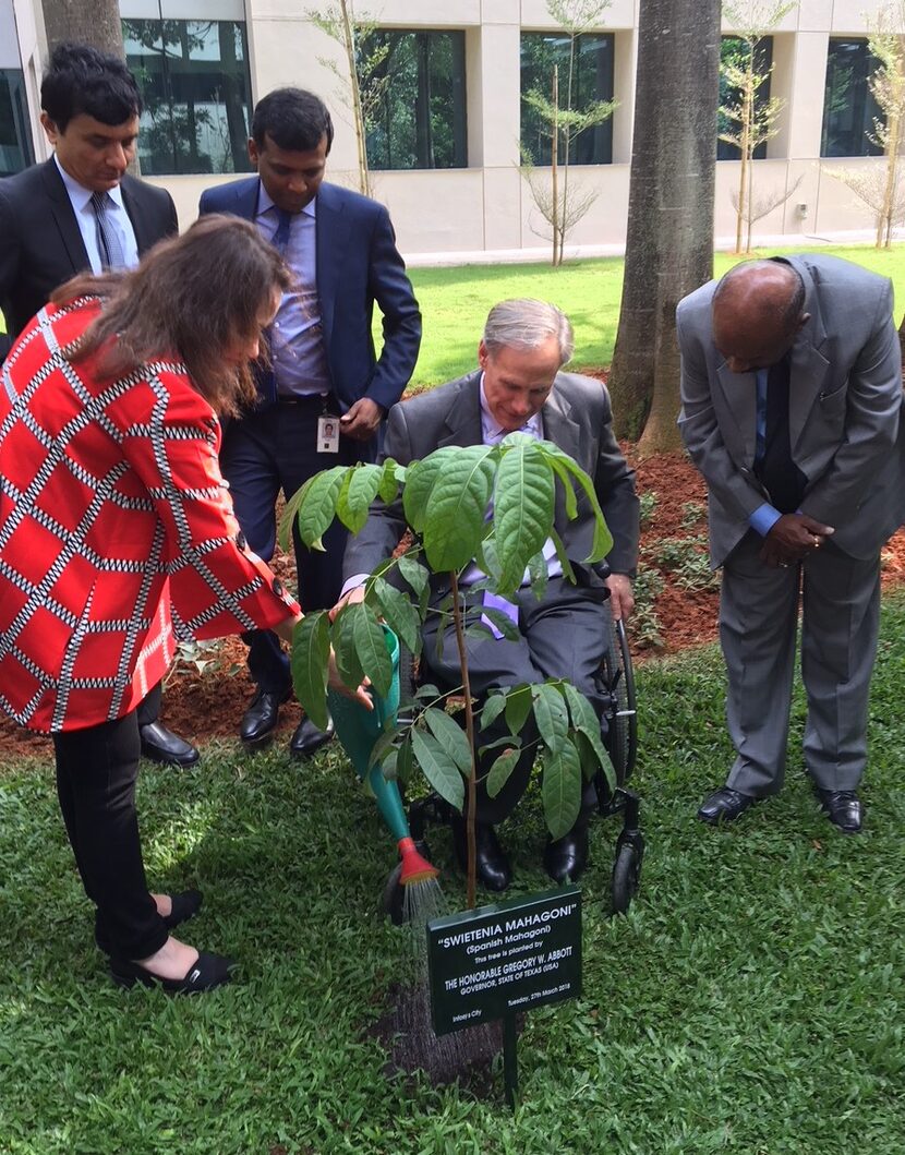
M 771 256 L 795 249 L 761 249 Z M 905 247 L 876 249 L 872 245 L 822 248 L 891 277 L 899 312 L 905 306 Z M 739 258 L 717 253 L 713 271 L 721 276 Z M 622 258 L 549 264 L 470 264 L 449 269 L 411 269 L 424 314 L 424 340 L 412 385 L 448 381 L 477 365 L 478 341 L 487 313 L 508 297 L 552 300 L 575 328 L 574 368 L 600 368 L 613 359 L 622 296 Z M 379 342 L 379 337 L 377 337 Z

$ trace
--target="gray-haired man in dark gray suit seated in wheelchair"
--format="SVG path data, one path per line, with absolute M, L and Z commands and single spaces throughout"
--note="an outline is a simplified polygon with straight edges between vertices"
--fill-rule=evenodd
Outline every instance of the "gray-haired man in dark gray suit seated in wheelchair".
M 536 300 L 509 300 L 496 305 L 487 319 L 478 348 L 480 368 L 422 393 L 389 411 L 383 457 L 402 464 L 425 457 L 444 445 L 494 445 L 507 433 L 522 431 L 555 442 L 574 457 L 594 480 L 614 545 L 608 565 L 591 567 L 582 559 L 591 552 L 593 517 L 586 500 L 579 499 L 578 516 L 566 517 L 559 495 L 555 528 L 571 561 L 577 586 L 562 576 L 552 549 L 549 583 L 538 602 L 523 586 L 509 606 L 517 617 L 519 639 L 469 638 L 469 671 L 472 692 L 546 678 L 569 678 L 597 707 L 603 707 L 594 675 L 600 666 L 613 617 L 631 612 L 631 576 L 638 547 L 638 500 L 635 475 L 620 453 L 611 426 L 609 395 L 597 380 L 560 372 L 571 357 L 571 326 L 553 305 Z M 364 581 L 375 566 L 389 558 L 405 529 L 398 504 L 376 502 L 361 532 L 350 539 L 344 558 L 344 597 L 360 599 Z M 465 583 L 483 576 L 477 567 L 463 575 Z M 432 604 L 449 593 L 442 578 L 435 579 Z M 478 604 L 481 595 L 470 595 Z M 422 661 L 440 685 L 459 684 L 455 639 L 447 632 L 441 651 L 436 646 L 436 616 L 425 626 Z M 500 723 L 500 735 L 504 732 Z M 484 740 L 498 733 L 485 731 Z M 530 735 L 523 733 L 523 743 Z M 492 751 L 488 762 L 499 753 Z M 515 807 L 524 791 L 533 762 L 528 750 L 503 790 L 488 797 L 479 787 L 477 808 L 478 874 L 485 886 L 504 889 L 510 869 L 494 826 Z M 486 772 L 486 767 L 484 768 Z M 586 820 L 593 791 L 585 795 L 582 815 L 564 837 L 547 843 L 544 860 L 556 881 L 575 880 L 588 860 Z M 464 824 L 454 824 L 459 862 L 465 859 Z

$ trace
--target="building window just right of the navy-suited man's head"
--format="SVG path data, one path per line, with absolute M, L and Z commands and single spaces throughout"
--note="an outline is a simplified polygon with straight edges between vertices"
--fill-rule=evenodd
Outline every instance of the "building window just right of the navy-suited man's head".
M 464 169 L 465 33 L 376 29 L 362 57 L 372 169 Z

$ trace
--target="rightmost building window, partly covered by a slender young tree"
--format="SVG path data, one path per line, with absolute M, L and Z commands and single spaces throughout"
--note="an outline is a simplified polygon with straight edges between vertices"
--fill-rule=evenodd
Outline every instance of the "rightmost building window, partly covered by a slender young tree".
M 884 119 L 867 87 L 876 60 L 866 39 L 830 39 L 823 96 L 821 156 L 881 156 L 869 139 L 874 121 Z

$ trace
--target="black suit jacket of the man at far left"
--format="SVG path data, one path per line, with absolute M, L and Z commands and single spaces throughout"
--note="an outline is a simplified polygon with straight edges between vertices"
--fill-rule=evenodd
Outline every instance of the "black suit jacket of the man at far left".
M 133 177 L 124 177 L 121 188 L 140 254 L 179 231 L 175 207 L 165 189 Z M 54 289 L 90 268 L 53 157 L 0 180 L 0 308 L 10 343 Z

